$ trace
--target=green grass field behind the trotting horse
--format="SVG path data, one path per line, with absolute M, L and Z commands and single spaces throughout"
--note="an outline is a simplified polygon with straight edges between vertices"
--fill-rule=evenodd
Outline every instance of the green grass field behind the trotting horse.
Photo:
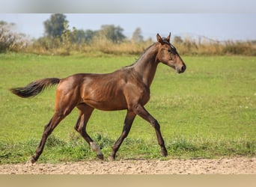
M 0 164 L 26 162 L 34 154 L 43 127 L 52 117 L 55 88 L 33 99 L 8 91 L 46 77 L 73 73 L 109 73 L 132 64 L 138 56 L 0 54 Z M 146 108 L 159 121 L 172 158 L 255 156 L 256 57 L 184 56 L 187 70 L 174 73 L 159 64 Z M 88 133 L 105 156 L 121 134 L 126 111 L 94 111 Z M 76 109 L 46 142 L 38 162 L 94 159 L 73 129 Z M 164 159 L 149 123 L 135 118 L 117 159 Z

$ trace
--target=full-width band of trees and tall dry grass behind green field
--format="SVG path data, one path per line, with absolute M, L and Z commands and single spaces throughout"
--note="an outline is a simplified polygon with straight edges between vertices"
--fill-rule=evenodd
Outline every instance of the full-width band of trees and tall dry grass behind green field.
M 0 21 L 0 52 L 33 52 L 46 55 L 70 55 L 70 52 L 103 52 L 138 55 L 153 43 L 144 40 L 141 28 L 135 28 L 129 39 L 124 29 L 116 25 L 101 25 L 97 31 L 70 28 L 62 13 L 52 14 L 43 22 L 44 35 L 28 40 L 25 34 L 11 31 L 12 23 Z M 256 41 L 195 40 L 172 37 L 172 43 L 182 55 L 256 55 Z

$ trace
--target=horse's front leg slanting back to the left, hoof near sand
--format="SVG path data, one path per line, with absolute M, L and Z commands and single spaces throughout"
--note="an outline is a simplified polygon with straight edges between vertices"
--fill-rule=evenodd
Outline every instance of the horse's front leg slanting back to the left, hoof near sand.
M 118 141 L 115 142 L 114 146 L 112 147 L 112 155 L 110 156 L 110 160 L 115 160 L 115 155 L 119 150 L 119 147 L 121 146 L 122 142 L 124 141 L 124 138 L 127 138 L 127 135 L 129 134 L 129 130 L 132 127 L 132 122 L 135 118 L 136 114 L 133 111 L 127 111 L 127 116 L 124 120 L 124 128 L 121 136 L 118 138 Z

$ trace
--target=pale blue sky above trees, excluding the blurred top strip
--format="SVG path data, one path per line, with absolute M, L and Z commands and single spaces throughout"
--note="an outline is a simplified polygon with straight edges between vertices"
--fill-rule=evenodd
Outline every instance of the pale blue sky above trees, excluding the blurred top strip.
M 144 39 L 156 34 L 213 40 L 256 40 L 256 13 L 64 13 L 70 28 L 99 30 L 101 25 L 120 26 L 131 37 L 141 28 Z M 43 37 L 43 22 L 51 13 L 0 13 L 0 21 L 15 23 L 14 31 L 31 38 Z

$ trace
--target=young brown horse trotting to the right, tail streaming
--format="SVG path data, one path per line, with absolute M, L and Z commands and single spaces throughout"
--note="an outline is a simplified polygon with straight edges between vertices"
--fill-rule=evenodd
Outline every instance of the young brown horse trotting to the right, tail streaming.
M 115 160 L 116 153 L 124 138 L 127 137 L 137 114 L 147 120 L 156 130 L 161 154 L 162 156 L 167 156 L 168 153 L 160 132 L 159 123 L 148 113 L 144 105 L 150 99 L 150 85 L 159 62 L 174 68 L 177 73 L 183 73 L 186 70 L 186 65 L 170 43 L 170 37 L 171 34 L 166 38 L 162 38 L 157 34 L 157 42 L 149 46 L 134 64 L 129 67 L 123 67 L 113 73 L 80 73 L 64 79 L 40 79 L 36 82 L 31 82 L 24 88 L 11 88 L 10 91 L 17 96 L 29 97 L 36 96 L 51 85 L 58 85 L 55 98 L 55 113 L 44 128 L 43 137 L 35 155 L 31 158 L 31 162 L 37 161 L 43 152 L 46 139 L 53 129 L 75 107 L 79 109 L 79 118 L 75 129 L 91 145 L 91 149 L 97 153 L 99 159 L 103 159 L 103 153 L 86 132 L 86 125 L 94 108 L 104 111 L 127 110 L 123 132 L 112 147 L 110 159 Z

